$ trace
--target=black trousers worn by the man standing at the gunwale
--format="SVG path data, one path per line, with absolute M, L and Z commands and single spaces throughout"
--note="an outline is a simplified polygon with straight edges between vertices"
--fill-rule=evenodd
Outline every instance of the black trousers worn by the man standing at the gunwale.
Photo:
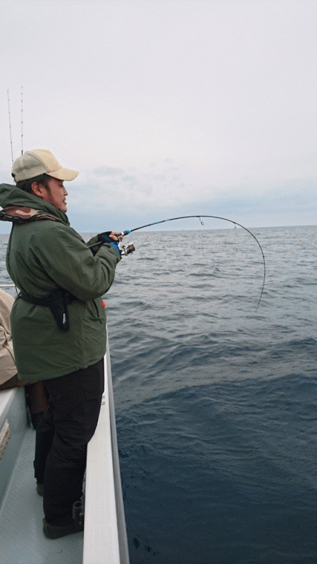
M 104 359 L 43 382 L 49 408 L 37 427 L 35 478 L 44 484 L 44 515 L 70 517 L 82 496 L 87 443 L 97 427 L 104 392 Z

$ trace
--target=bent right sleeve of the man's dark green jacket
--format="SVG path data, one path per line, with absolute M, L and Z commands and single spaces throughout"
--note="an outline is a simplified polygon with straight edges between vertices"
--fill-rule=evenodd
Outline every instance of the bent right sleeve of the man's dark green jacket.
M 121 259 L 116 249 L 105 244 L 93 256 L 72 228 L 53 221 L 45 223 L 45 236 L 35 230 L 32 240 L 37 264 L 57 286 L 78 300 L 85 302 L 104 295 L 113 283 L 116 264 Z

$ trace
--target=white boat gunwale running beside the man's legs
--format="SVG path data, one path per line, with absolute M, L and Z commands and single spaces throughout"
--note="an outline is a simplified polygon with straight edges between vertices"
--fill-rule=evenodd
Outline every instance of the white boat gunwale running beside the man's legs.
M 129 562 L 107 338 L 105 391 L 87 449 L 83 564 Z

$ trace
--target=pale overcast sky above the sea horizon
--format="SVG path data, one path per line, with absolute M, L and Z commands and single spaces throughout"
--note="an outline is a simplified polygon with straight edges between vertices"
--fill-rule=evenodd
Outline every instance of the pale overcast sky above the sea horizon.
M 316 0 L 0 0 L 0 10 L 1 182 L 11 183 L 7 90 L 16 158 L 23 87 L 23 149 L 80 171 L 66 186 L 79 231 L 189 214 L 317 224 Z

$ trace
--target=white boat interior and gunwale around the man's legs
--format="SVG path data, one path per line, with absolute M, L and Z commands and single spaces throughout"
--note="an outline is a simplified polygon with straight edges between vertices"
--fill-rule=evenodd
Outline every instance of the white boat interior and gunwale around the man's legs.
M 46 539 L 42 531 L 35 430 L 24 388 L 0 392 L 1 564 L 129 564 L 108 343 L 105 375 L 108 386 L 87 451 L 85 530 L 63 539 Z

